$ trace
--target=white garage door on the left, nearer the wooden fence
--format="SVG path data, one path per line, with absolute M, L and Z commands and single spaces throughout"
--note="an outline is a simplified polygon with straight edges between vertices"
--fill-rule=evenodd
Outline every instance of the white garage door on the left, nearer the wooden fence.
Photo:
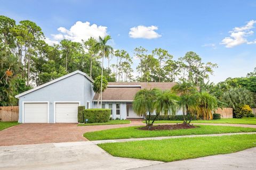
M 24 118 L 25 123 L 47 123 L 48 104 L 47 103 L 25 103 Z

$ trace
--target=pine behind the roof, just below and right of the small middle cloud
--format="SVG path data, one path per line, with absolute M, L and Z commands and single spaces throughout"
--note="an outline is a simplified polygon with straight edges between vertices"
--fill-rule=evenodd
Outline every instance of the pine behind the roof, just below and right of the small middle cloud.
M 164 75 L 164 70 L 162 69 L 162 65 L 165 63 L 166 60 L 171 60 L 173 56 L 168 53 L 167 50 L 162 48 L 155 48 L 152 51 L 153 56 L 157 56 L 158 58 L 158 81 L 161 82 L 161 77 Z

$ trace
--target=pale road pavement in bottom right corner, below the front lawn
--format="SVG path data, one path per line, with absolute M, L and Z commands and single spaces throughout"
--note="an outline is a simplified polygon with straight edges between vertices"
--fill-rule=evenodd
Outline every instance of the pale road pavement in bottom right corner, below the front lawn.
M 256 147 L 233 154 L 214 155 L 196 159 L 179 160 L 159 165 L 151 165 L 132 170 L 255 170 Z M 130 170 L 131 170 L 130 169 Z

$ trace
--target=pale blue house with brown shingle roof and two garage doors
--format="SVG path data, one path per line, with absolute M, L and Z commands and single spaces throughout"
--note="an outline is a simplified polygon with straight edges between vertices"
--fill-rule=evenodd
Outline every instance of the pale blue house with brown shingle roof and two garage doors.
M 93 80 L 75 71 L 42 84 L 15 97 L 19 98 L 20 123 L 77 123 L 77 107 L 97 108 L 98 94 Z M 141 89 L 171 89 L 170 82 L 109 82 L 102 93 L 102 108 L 111 109 L 111 117 L 141 118 L 132 109 L 133 97 Z

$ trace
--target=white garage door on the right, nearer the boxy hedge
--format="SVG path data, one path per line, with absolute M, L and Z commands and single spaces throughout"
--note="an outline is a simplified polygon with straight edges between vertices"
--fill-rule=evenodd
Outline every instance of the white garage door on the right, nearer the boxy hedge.
M 78 103 L 56 103 L 56 123 L 77 123 Z

